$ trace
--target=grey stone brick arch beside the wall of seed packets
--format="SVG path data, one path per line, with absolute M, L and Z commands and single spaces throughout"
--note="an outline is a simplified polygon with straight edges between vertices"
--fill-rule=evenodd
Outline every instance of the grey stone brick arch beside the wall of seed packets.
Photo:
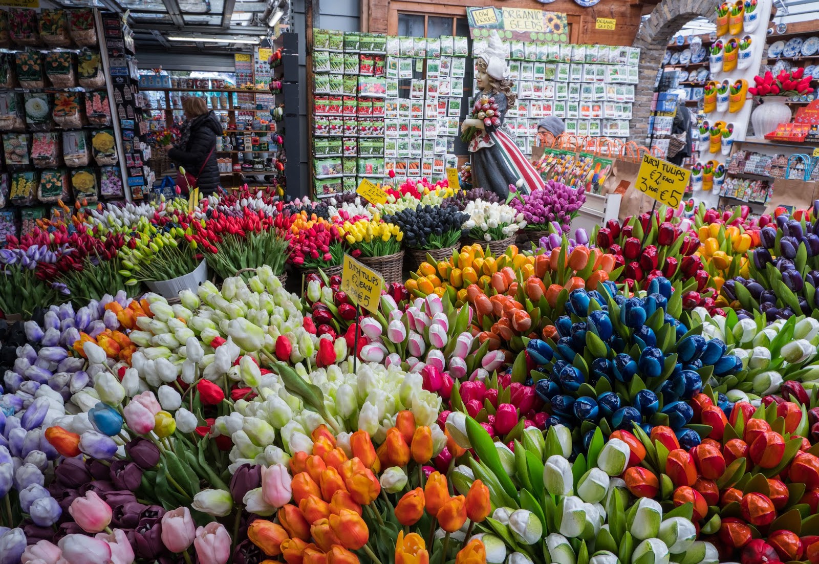
M 633 47 L 640 47 L 640 82 L 635 88 L 635 104 L 629 124 L 631 139 L 638 145 L 645 145 L 648 141 L 654 81 L 668 40 L 696 17 L 715 19 L 714 6 L 713 0 L 663 0 L 651 11 L 651 17 L 640 25 L 632 43 Z

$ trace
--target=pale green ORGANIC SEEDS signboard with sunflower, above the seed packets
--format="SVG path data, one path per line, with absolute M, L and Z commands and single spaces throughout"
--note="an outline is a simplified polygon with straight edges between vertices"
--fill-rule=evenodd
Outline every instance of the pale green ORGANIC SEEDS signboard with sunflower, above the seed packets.
M 514 7 L 467 8 L 472 37 L 488 38 L 495 29 L 501 39 L 527 42 L 568 41 L 566 14 Z

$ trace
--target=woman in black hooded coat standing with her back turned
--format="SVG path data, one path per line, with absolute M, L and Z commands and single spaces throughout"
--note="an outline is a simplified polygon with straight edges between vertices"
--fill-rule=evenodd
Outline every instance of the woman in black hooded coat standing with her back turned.
M 216 136 L 222 134 L 222 124 L 213 111 L 208 111 L 202 97 L 187 97 L 182 107 L 186 119 L 182 138 L 176 147 L 170 148 L 168 156 L 197 178 L 200 192 L 213 192 L 219 187 Z

